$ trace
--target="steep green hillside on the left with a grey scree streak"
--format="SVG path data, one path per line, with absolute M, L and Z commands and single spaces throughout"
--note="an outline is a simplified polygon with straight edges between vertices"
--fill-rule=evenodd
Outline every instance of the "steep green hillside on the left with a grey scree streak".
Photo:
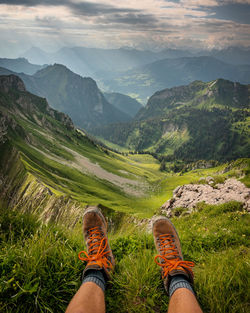
M 48 220 L 65 214 L 70 221 L 86 204 L 131 213 L 136 208 L 147 216 L 163 202 L 165 192 L 158 182 L 165 175 L 159 173 L 157 160 L 120 155 L 98 145 L 78 131 L 69 116 L 27 92 L 17 76 L 1 76 L 0 114 L 0 172 L 6 179 L 1 199 L 7 201 L 12 194 L 16 207 L 26 199 L 31 211 L 39 204 Z

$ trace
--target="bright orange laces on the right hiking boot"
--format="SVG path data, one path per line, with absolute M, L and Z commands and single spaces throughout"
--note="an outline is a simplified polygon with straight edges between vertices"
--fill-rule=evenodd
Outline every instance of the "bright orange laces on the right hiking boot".
M 174 244 L 172 235 L 160 235 L 160 254 L 156 255 L 155 263 L 162 268 L 162 278 L 167 277 L 168 273 L 172 270 L 185 270 L 193 271 L 191 267 L 194 267 L 194 262 L 183 261 L 180 259 L 177 248 Z M 169 258 L 170 257 L 170 258 Z M 160 259 L 160 261 L 158 261 Z

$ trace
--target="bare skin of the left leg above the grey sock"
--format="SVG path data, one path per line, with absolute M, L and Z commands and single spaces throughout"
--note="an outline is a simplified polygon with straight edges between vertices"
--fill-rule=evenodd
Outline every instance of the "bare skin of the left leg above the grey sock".
M 95 283 L 84 283 L 65 313 L 105 313 L 104 292 Z

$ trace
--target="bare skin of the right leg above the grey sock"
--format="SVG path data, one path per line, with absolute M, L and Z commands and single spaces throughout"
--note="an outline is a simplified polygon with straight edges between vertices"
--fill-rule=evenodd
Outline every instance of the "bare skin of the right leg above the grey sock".
M 179 288 L 170 298 L 168 313 L 202 313 L 202 310 L 190 290 Z

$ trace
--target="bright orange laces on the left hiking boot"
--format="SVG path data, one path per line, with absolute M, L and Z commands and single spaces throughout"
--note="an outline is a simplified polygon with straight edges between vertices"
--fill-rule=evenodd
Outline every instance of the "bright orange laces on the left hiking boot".
M 98 227 L 90 228 L 88 234 L 88 253 L 86 251 L 81 251 L 78 254 L 78 258 L 82 262 L 87 261 L 88 263 L 91 262 L 97 264 L 101 268 L 112 269 L 112 263 L 107 259 L 107 254 L 111 251 L 105 251 L 108 246 L 108 239 L 103 236 L 102 231 Z

